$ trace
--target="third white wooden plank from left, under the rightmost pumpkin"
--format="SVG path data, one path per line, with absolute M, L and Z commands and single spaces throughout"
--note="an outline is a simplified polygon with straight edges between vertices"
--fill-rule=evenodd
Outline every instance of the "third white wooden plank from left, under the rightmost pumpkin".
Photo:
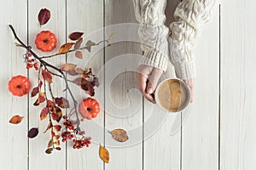
M 91 40 L 100 42 L 103 40 L 103 2 L 70 0 L 67 1 L 67 36 L 73 31 L 84 32 L 84 42 L 81 47 L 85 46 L 85 42 Z M 70 40 L 68 40 L 70 41 Z M 74 54 L 67 55 L 67 62 L 75 63 L 78 67 L 87 69 L 92 68 L 93 73 L 99 77 L 103 75 L 103 46 L 92 47 L 91 52 L 82 51 L 83 59 L 77 59 Z M 73 77 L 69 77 L 73 79 Z M 101 103 L 101 112 L 94 120 L 81 122 L 81 127 L 86 134 L 92 138 L 93 143 L 89 148 L 82 150 L 73 150 L 71 145 L 67 146 L 67 169 L 83 170 L 83 169 L 103 169 L 103 161 L 98 156 L 99 144 L 103 144 L 104 139 L 104 77 L 99 77 L 100 87 L 96 89 L 95 98 Z M 89 97 L 83 90 L 77 86 L 72 86 L 76 99 L 80 102 L 82 99 Z M 70 99 L 70 97 L 69 97 Z M 96 126 L 97 125 L 97 126 Z

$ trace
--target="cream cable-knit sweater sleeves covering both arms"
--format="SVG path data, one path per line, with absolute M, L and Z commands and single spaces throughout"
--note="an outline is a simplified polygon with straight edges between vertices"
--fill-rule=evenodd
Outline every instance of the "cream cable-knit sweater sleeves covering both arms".
M 177 77 L 183 80 L 195 77 L 191 48 L 218 3 L 219 0 L 183 0 L 168 28 L 165 26 L 166 0 L 133 0 L 144 52 L 141 64 L 166 71 L 167 63 L 171 61 Z

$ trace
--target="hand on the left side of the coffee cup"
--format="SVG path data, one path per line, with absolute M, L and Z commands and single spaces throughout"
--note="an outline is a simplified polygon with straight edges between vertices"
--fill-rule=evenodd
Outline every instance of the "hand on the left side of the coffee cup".
M 154 104 L 154 89 L 162 74 L 163 71 L 149 65 L 140 65 L 137 68 L 138 89 L 146 99 Z

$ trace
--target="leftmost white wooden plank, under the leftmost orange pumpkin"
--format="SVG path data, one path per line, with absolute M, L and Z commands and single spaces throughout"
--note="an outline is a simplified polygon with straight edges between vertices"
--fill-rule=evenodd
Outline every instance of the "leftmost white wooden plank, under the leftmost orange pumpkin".
M 8 90 L 11 77 L 26 76 L 26 65 L 23 63 L 25 50 L 15 46 L 15 38 L 8 26 L 13 25 L 20 38 L 26 42 L 26 0 L 3 3 L 0 14 L 4 16 L 0 22 L 1 167 L 27 169 L 27 96 L 13 96 Z M 19 125 L 10 124 L 9 119 L 17 114 L 24 116 L 23 121 Z

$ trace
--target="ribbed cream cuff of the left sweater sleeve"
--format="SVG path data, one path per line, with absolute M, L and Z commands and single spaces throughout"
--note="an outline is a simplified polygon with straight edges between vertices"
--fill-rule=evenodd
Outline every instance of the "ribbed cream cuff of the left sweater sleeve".
M 167 70 L 168 59 L 164 54 L 154 49 L 144 51 L 143 59 L 139 63 L 140 65 L 150 65 L 154 68 L 158 68 L 164 72 Z

